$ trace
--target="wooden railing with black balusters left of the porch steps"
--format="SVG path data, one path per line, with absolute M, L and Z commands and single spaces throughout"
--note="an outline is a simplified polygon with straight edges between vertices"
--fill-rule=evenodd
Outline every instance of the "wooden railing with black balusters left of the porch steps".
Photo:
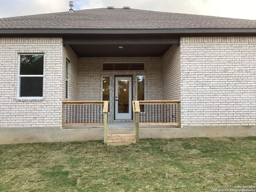
M 109 101 L 63 101 L 62 126 L 103 125 L 104 143 L 107 143 L 108 102 Z

